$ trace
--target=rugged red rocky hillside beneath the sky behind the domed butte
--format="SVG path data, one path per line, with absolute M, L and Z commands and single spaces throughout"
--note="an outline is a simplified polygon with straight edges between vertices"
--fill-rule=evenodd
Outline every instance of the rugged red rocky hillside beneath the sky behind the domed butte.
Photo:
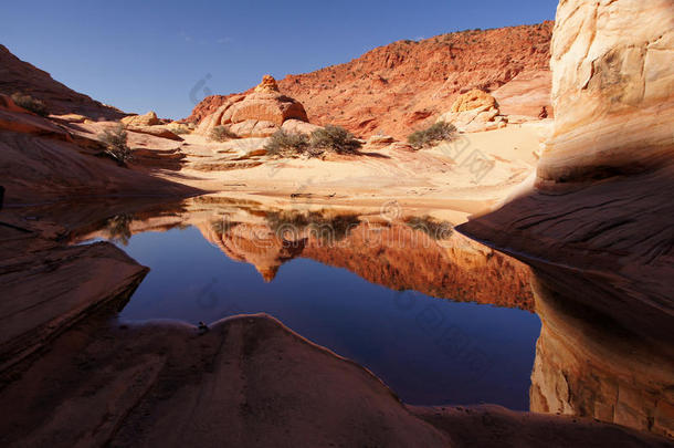
M 455 97 L 472 88 L 503 91 L 509 113 L 537 117 L 549 102 L 549 45 L 552 22 L 487 31 L 463 31 L 419 42 L 377 48 L 348 63 L 278 82 L 282 93 L 297 98 L 312 118 L 336 124 L 357 136 L 383 133 L 406 139 L 433 123 Z M 200 123 L 235 95 L 209 96 L 188 121 Z M 512 98 L 512 100 L 510 100 Z

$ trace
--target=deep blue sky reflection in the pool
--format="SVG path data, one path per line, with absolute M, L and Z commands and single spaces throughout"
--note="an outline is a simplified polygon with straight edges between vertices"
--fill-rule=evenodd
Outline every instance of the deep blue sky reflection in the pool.
M 147 232 L 124 250 L 150 273 L 123 320 L 213 322 L 265 312 L 381 377 L 406 403 L 496 403 L 528 409 L 535 314 L 394 292 L 340 268 L 296 259 L 265 283 L 198 229 Z

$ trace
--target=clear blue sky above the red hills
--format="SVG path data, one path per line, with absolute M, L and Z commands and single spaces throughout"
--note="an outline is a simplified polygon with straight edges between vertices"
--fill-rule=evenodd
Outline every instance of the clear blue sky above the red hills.
M 200 80 L 244 91 L 350 61 L 401 39 L 538 23 L 557 0 L 9 1 L 0 43 L 78 92 L 126 112 L 181 118 Z M 207 79 L 207 75 L 210 77 Z M 197 100 L 204 96 L 198 88 Z

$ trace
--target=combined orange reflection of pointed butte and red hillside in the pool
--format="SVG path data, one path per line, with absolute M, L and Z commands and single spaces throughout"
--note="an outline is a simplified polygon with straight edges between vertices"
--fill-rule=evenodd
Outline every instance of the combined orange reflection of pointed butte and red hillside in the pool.
M 297 218 L 295 226 L 272 217 L 198 227 L 228 257 L 254 264 L 266 281 L 282 263 L 303 257 L 394 290 L 533 310 L 528 268 L 461 236 L 435 241 L 403 222 L 377 225 L 352 216 L 309 216 L 308 223 Z

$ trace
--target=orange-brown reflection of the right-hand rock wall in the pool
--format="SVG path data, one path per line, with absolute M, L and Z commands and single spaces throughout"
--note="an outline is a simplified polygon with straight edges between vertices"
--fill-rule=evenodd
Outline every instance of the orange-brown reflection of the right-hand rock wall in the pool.
M 547 278 L 534 284 L 543 322 L 531 373 L 530 409 L 589 416 L 674 436 L 674 357 L 666 341 L 623 330 L 573 301 L 573 291 L 621 296 L 575 277 L 565 286 Z M 554 289 L 552 289 L 554 288 Z

